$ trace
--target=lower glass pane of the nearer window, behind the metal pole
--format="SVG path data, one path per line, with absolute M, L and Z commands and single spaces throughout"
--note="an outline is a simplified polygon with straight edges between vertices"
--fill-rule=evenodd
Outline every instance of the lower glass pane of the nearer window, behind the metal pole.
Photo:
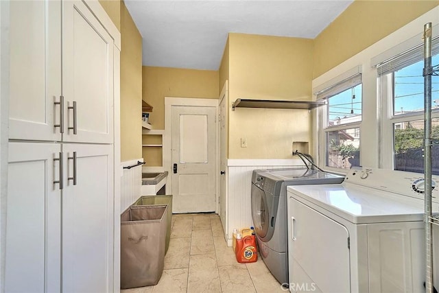
M 431 137 L 439 139 L 439 118 L 431 119 Z M 394 124 L 394 169 L 424 172 L 424 121 Z M 431 148 L 431 173 L 439 175 L 439 145 Z

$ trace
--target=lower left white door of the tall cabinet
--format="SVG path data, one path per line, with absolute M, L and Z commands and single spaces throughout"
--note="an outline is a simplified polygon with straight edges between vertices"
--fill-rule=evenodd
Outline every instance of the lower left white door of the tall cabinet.
M 9 143 L 5 292 L 60 292 L 60 145 Z

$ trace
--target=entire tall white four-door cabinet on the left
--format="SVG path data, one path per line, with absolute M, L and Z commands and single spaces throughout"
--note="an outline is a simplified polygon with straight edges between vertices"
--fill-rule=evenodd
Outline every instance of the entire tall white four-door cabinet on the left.
M 10 1 L 5 292 L 119 290 L 120 34 L 103 13 L 97 1 Z

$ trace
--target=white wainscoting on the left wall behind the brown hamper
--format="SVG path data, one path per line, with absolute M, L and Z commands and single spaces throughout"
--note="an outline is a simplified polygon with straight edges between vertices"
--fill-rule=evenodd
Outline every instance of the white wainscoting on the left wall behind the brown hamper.
M 143 159 L 122 162 L 121 169 L 122 167 L 136 165 L 137 161 L 143 162 Z M 141 189 L 142 167 L 123 169 L 121 177 L 121 213 L 141 196 Z

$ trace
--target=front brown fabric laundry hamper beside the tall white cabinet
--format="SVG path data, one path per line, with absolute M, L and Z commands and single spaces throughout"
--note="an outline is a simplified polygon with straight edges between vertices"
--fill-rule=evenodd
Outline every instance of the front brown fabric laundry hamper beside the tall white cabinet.
M 167 205 L 131 206 L 121 215 L 121 289 L 156 285 L 165 259 Z

